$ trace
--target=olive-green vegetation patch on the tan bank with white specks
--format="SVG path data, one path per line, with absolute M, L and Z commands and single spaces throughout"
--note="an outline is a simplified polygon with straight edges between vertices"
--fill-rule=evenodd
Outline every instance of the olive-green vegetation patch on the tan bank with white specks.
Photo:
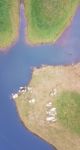
M 59 121 L 67 128 L 80 134 L 80 94 L 63 92 L 55 103 Z

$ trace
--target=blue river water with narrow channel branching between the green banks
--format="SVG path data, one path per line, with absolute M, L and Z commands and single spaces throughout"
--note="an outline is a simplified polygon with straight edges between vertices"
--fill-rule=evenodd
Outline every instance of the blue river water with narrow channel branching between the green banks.
M 61 65 L 80 61 L 80 9 L 67 36 L 54 45 L 31 47 L 24 40 L 24 14 L 20 12 L 20 35 L 8 53 L 0 53 L 0 150 L 52 150 L 53 148 L 25 129 L 10 99 L 12 92 L 31 79 L 32 67 Z M 66 32 L 66 31 L 65 31 Z

